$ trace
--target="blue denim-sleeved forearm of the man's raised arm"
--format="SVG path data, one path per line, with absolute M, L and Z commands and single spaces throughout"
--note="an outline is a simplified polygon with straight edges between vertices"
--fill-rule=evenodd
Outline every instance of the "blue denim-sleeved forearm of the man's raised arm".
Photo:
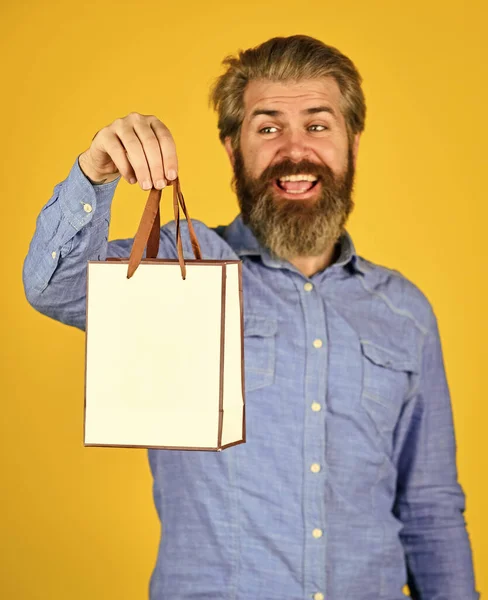
M 80 329 L 85 327 L 86 265 L 106 257 L 115 185 L 95 192 L 76 162 L 41 210 L 24 261 L 30 304 Z

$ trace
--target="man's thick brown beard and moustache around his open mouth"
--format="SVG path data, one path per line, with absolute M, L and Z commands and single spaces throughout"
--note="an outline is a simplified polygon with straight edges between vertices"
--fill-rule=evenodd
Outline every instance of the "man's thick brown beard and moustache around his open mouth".
M 308 160 L 284 160 L 251 178 L 240 149 L 235 154 L 233 185 L 243 222 L 261 245 L 282 259 L 320 256 L 341 236 L 354 208 L 352 191 L 354 164 L 349 148 L 346 172 L 335 176 L 327 165 Z M 273 181 L 284 175 L 310 173 L 322 184 L 314 200 L 285 200 L 273 189 Z

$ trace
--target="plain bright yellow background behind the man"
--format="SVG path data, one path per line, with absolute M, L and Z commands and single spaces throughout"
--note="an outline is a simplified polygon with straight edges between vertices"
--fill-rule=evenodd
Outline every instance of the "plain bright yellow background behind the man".
M 192 216 L 229 222 L 237 204 L 209 85 L 225 55 L 293 33 L 337 46 L 364 77 L 367 130 L 349 230 L 360 254 L 403 272 L 434 305 L 477 587 L 488 593 L 486 3 L 6 4 L 0 596 L 146 598 L 159 537 L 145 452 L 83 448 L 83 334 L 24 298 L 21 268 L 38 212 L 93 135 L 137 111 L 173 131 Z M 134 234 L 146 196 L 119 183 L 112 238 Z

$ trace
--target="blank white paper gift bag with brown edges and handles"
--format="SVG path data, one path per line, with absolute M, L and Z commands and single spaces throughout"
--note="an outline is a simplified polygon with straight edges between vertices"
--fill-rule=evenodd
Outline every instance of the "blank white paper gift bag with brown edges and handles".
M 245 442 L 241 262 L 202 260 L 179 180 L 178 259 L 158 259 L 160 200 L 153 188 L 129 259 L 88 262 L 84 443 L 220 451 Z

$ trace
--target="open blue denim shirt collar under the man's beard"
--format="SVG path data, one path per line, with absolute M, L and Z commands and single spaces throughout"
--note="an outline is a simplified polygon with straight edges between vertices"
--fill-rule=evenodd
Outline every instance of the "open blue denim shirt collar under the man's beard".
M 288 261 L 276 258 L 269 250 L 261 246 L 251 229 L 244 224 L 241 214 L 224 228 L 223 237 L 238 256 L 261 256 L 263 263 L 268 267 L 290 267 Z M 346 230 L 339 238 L 338 243 L 340 244 L 340 253 L 334 266 L 351 269 L 353 272 L 364 275 L 366 269 L 360 264 L 362 261 L 358 257 L 352 238 Z

